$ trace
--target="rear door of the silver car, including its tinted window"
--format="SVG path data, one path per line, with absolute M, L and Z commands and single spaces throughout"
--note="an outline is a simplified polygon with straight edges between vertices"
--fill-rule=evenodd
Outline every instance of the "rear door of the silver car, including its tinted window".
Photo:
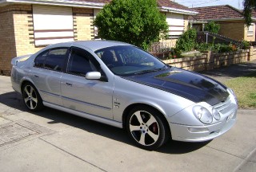
M 31 78 L 43 101 L 62 105 L 60 80 L 68 54 L 68 48 L 55 48 L 35 58 Z

